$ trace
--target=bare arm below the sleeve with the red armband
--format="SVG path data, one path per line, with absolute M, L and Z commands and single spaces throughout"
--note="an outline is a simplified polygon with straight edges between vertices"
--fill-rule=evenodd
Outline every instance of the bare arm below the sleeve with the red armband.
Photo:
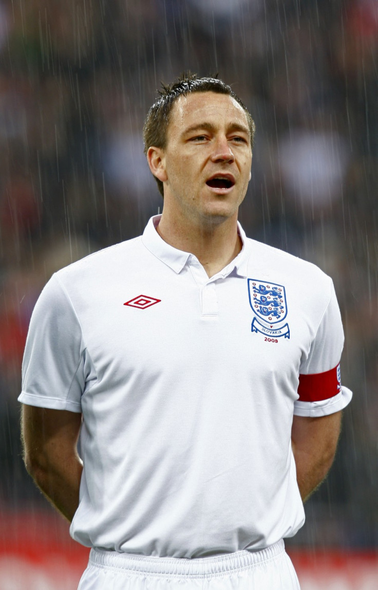
M 320 486 L 331 468 L 340 426 L 341 412 L 320 418 L 294 416 L 291 447 L 303 501 Z

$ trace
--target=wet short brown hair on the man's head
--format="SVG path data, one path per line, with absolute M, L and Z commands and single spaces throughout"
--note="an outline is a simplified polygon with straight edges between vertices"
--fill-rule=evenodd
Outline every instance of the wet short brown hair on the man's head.
M 218 74 L 217 74 L 218 76 Z M 190 92 L 215 92 L 218 94 L 228 94 L 231 96 L 244 110 L 248 119 L 249 133 L 251 136 L 251 146 L 253 147 L 255 136 L 255 123 L 246 108 L 245 104 L 234 93 L 231 86 L 225 84 L 218 77 L 198 77 L 197 74 L 191 72 L 184 72 L 182 76 L 176 78 L 172 84 L 163 84 L 162 90 L 158 90 L 160 97 L 153 103 L 143 126 L 143 141 L 144 153 L 147 155 L 147 150 L 151 146 L 155 148 L 166 147 L 167 141 L 167 127 L 169 124 L 169 116 L 172 106 L 180 96 L 186 96 Z M 154 176 L 159 192 L 164 196 L 163 183 Z

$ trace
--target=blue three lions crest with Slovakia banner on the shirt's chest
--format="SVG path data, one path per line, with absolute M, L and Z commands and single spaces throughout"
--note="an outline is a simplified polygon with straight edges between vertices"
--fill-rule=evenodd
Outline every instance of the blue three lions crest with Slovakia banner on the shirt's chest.
M 252 321 L 252 332 L 261 332 L 271 338 L 290 338 L 288 324 L 281 325 L 287 316 L 285 287 L 248 278 L 248 294 L 249 304 L 257 316 Z

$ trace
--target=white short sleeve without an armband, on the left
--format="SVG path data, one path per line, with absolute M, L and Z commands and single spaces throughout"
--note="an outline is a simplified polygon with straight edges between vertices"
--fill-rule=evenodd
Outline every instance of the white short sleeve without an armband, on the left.
M 18 401 L 81 412 L 81 395 L 95 377 L 80 322 L 55 274 L 32 313 Z

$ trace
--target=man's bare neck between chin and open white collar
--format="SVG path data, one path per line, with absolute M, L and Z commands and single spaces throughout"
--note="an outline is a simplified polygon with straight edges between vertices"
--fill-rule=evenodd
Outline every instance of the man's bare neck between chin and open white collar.
M 236 215 L 222 223 L 188 227 L 187 221 L 182 224 L 163 211 L 157 232 L 173 248 L 194 254 L 208 277 L 219 273 L 242 249 Z

